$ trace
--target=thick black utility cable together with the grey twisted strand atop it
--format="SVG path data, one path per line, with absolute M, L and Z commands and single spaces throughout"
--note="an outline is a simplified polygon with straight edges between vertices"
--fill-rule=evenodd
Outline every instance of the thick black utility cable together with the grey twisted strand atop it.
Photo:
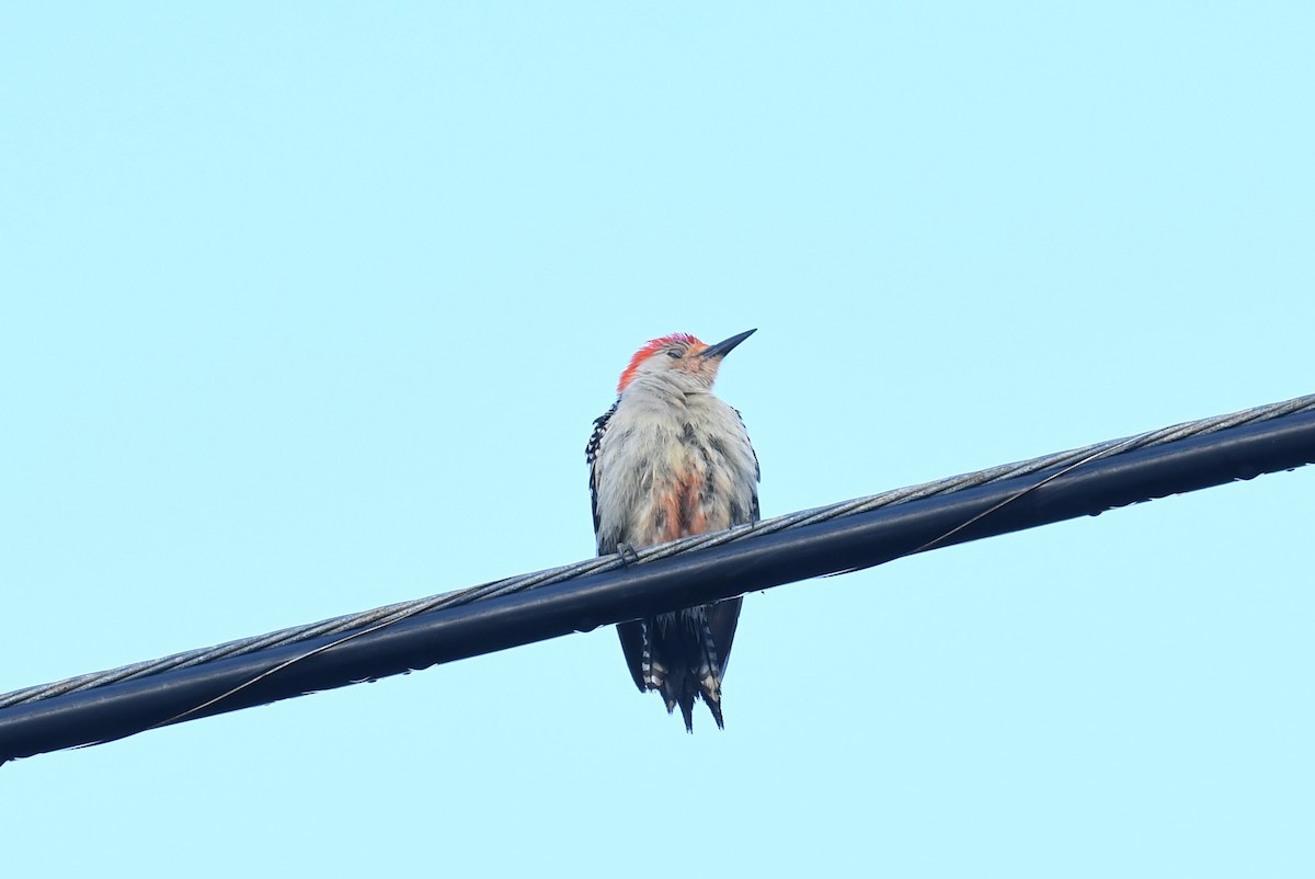
M 1315 395 L 0 696 L 0 761 L 1315 462 Z

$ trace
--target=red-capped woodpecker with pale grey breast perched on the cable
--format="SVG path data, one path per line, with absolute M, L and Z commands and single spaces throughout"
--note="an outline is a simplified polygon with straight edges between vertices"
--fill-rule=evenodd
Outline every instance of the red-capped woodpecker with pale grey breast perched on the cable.
M 739 412 L 713 395 L 722 358 L 753 332 L 715 345 L 675 333 L 630 358 L 585 447 L 600 555 L 757 521 L 757 455 Z M 617 626 L 635 686 L 661 693 L 668 713 L 680 705 L 689 732 L 700 696 L 725 725 L 722 676 L 742 600 Z

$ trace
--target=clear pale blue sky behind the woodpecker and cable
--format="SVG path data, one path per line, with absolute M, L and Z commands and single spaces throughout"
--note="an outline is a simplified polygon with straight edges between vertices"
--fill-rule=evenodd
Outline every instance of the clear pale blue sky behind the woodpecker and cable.
M 631 351 L 767 516 L 1315 392 L 1307 4 L 0 13 L 0 691 L 585 558 Z M 1315 872 L 1315 472 L 0 767 L 7 875 Z M 807 871 L 807 872 L 803 872 Z

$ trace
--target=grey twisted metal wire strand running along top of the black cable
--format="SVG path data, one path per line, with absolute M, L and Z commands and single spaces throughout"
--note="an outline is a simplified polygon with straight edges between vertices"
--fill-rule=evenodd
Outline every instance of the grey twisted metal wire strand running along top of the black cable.
M 1186 421 L 1184 424 L 1177 424 L 1168 428 L 1148 430 L 1145 433 L 1140 433 L 1132 437 L 1126 437 L 1123 440 L 1107 440 L 1105 442 L 1097 442 L 1090 446 L 1084 446 L 1081 449 L 1057 451 L 1048 455 L 1041 455 L 1040 458 L 1032 458 L 1030 461 L 1020 461 L 1009 465 L 998 465 L 994 467 L 988 467 L 986 470 L 961 474 L 959 476 L 947 476 L 943 479 L 935 479 L 932 482 L 926 482 L 917 486 L 894 488 L 890 491 L 881 492 L 878 495 L 871 495 L 868 497 L 857 497 L 855 500 L 846 500 L 838 504 L 830 504 L 827 507 L 818 507 L 814 509 L 805 509 L 794 513 L 788 513 L 785 516 L 777 516 L 776 518 L 764 520 L 760 522 L 755 522 L 752 525 L 739 525 L 736 528 L 731 528 L 730 530 L 725 532 L 715 532 L 711 534 L 697 534 L 694 537 L 685 537 L 677 541 L 672 541 L 669 543 L 660 543 L 658 546 L 648 546 L 639 550 L 631 550 L 626 553 L 626 559 L 622 559 L 619 554 L 604 555 L 600 558 L 585 559 L 583 562 L 575 562 L 572 565 L 563 565 L 560 567 L 535 571 L 533 574 L 509 576 L 501 580 L 493 580 L 489 583 L 483 583 L 480 586 L 473 586 L 464 590 L 456 590 L 454 592 L 443 592 L 423 599 L 401 601 L 397 604 L 389 604 L 380 608 L 373 608 L 371 611 L 348 613 L 346 616 L 333 617 L 330 620 L 322 620 L 320 622 L 292 626 L 288 629 L 280 629 L 277 632 L 252 636 L 249 638 L 239 638 L 237 641 L 229 641 L 226 643 L 220 643 L 210 647 L 199 647 L 195 650 L 187 650 L 159 659 L 135 662 L 128 666 L 121 666 L 118 668 L 109 668 L 107 671 L 96 671 L 91 674 L 78 675 L 75 678 L 67 678 L 64 680 L 58 680 L 49 684 L 26 687 L 24 690 L 16 690 L 13 692 L 0 696 L 0 709 L 12 708 L 14 705 L 22 705 L 26 703 L 41 701 L 43 699 L 51 699 L 54 696 L 62 696 L 66 693 L 93 690 L 97 687 L 107 687 L 109 684 L 125 680 L 134 680 L 138 678 L 158 675 L 166 671 L 172 671 L 175 668 L 187 668 L 191 666 L 217 662 L 220 659 L 225 659 L 229 657 L 238 657 L 249 653 L 255 653 L 259 650 L 266 650 L 270 647 L 299 643 L 302 641 L 309 641 L 312 638 L 318 638 L 321 636 L 346 634 L 346 633 L 359 634 L 360 633 L 359 630 L 363 629 L 373 632 L 393 625 L 394 622 L 398 622 L 401 620 L 417 616 L 419 613 L 462 607 L 472 604 L 475 601 L 484 601 L 504 595 L 513 595 L 517 592 L 523 592 L 526 590 L 563 583 L 565 580 L 573 580 L 581 576 L 588 576 L 590 574 L 613 571 L 627 565 L 636 565 L 636 563 L 643 565 L 647 562 L 669 558 L 672 555 L 679 555 L 682 553 L 692 553 L 702 549 L 710 549 L 713 546 L 722 546 L 732 541 L 743 540 L 750 534 L 755 536 L 773 534 L 792 528 L 803 528 L 806 525 L 814 525 L 818 522 L 840 518 L 843 516 L 857 516 L 860 513 L 867 513 L 874 509 L 880 509 L 882 507 L 906 504 L 910 501 L 920 500 L 924 497 L 932 497 L 936 495 L 948 495 L 953 492 L 967 491 L 969 488 L 976 488 L 978 486 L 986 486 L 990 483 L 1002 482 L 1005 479 L 1013 479 L 1016 476 L 1041 474 L 1045 471 L 1056 471 L 1047 478 L 1047 479 L 1055 479 L 1085 463 L 1097 461 L 1099 458 L 1110 457 L 1114 454 L 1123 454 L 1137 449 L 1148 449 L 1152 446 L 1160 446 L 1186 440 L 1189 437 L 1203 436 L 1203 434 L 1216 433 L 1219 430 L 1237 428 L 1245 424 L 1252 424 L 1257 421 L 1269 421 L 1273 418 L 1281 418 L 1285 416 L 1293 416 L 1312 411 L 1315 411 L 1315 395 L 1307 395 L 1291 400 L 1285 400 L 1282 403 L 1272 403 L 1268 405 L 1255 407 L 1251 409 L 1243 409 L 1240 412 L 1233 412 L 1230 414 L 1214 416 L 1210 418 L 1201 418 L 1197 421 Z M 1030 488 L 1023 491 L 1024 492 L 1030 491 Z M 965 525 L 967 524 L 968 522 L 965 522 Z M 939 542 L 939 540 L 943 538 L 938 538 L 938 541 L 932 541 L 931 543 L 919 547 L 919 551 L 930 549 L 932 545 Z

